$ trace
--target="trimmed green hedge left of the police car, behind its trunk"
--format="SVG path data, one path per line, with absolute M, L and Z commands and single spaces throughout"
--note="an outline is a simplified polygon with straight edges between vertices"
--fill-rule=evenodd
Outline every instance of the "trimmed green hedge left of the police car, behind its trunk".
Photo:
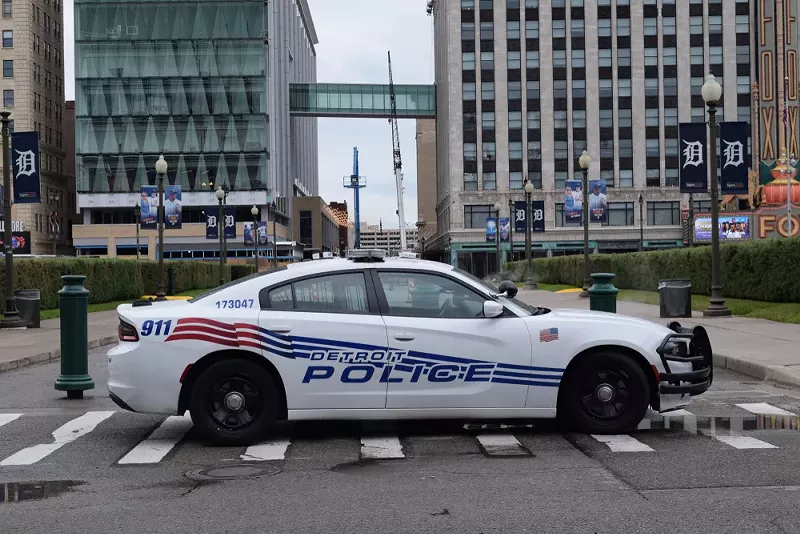
M 42 309 L 58 308 L 61 276 L 86 276 L 89 303 L 99 304 L 118 300 L 133 300 L 142 295 L 154 295 L 158 288 L 158 262 L 136 262 L 120 259 L 65 258 L 16 259 L 14 261 L 15 289 L 39 289 Z M 164 284 L 169 288 L 169 269 L 175 272 L 175 292 L 207 289 L 219 285 L 219 264 L 201 261 L 165 261 Z M 255 272 L 249 265 L 227 266 L 227 279 L 236 279 Z M 233 278 L 231 278 L 233 276 Z M 0 272 L 0 298 L 5 299 L 5 271 Z

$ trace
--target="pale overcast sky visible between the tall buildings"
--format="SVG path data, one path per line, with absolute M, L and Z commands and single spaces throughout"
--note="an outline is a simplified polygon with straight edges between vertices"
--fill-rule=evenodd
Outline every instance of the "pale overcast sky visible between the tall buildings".
M 317 72 L 320 82 L 388 83 L 386 52 L 392 52 L 395 83 L 433 83 L 432 19 L 425 0 L 308 0 L 319 36 Z M 64 71 L 66 97 L 75 95 L 72 0 L 64 2 Z M 415 122 L 401 120 L 400 148 L 405 181 L 405 219 L 417 220 L 417 154 Z M 392 168 L 392 131 L 383 119 L 319 119 L 319 186 L 327 202 L 347 200 L 353 218 L 353 193 L 342 177 L 353 169 L 353 147 L 359 171 L 361 220 L 397 227 Z

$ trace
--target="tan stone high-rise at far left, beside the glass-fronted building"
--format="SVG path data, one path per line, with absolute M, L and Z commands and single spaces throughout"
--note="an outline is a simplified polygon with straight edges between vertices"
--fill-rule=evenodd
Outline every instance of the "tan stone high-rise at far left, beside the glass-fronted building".
M 68 251 L 65 219 L 75 208 L 64 176 L 63 18 L 60 0 L 2 0 L 2 109 L 11 113 L 12 133 L 39 132 L 41 203 L 12 208 L 15 228 L 36 255 Z

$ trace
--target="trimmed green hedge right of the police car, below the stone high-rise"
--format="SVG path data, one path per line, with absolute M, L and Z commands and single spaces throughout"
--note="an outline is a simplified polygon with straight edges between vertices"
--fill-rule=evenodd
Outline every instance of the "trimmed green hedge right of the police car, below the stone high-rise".
M 725 243 L 722 258 L 722 293 L 728 298 L 765 302 L 800 302 L 800 238 Z M 692 293 L 711 294 L 711 247 L 700 246 L 628 254 L 592 254 L 590 272 L 616 274 L 620 289 L 655 291 L 658 281 L 688 278 Z M 514 280 L 524 280 L 526 262 L 507 264 Z M 534 260 L 534 277 L 547 284 L 583 285 L 583 255 Z

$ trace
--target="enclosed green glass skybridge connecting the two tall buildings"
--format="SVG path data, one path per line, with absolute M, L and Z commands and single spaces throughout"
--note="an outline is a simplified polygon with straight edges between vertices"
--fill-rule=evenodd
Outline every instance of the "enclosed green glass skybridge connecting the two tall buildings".
M 436 118 L 436 87 L 395 85 L 398 119 Z M 291 84 L 289 112 L 294 116 L 391 118 L 388 85 Z

